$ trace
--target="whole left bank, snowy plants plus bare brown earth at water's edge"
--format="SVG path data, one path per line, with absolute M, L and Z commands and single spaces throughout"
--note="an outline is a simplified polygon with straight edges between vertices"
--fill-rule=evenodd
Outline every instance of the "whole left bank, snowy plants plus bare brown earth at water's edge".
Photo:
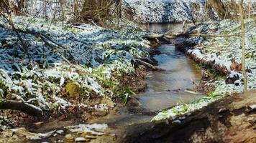
M 12 16 L 12 21 L 23 40 L 6 19 L 0 20 L 0 96 L 29 104 L 43 115 L 1 110 L 1 131 L 41 127 L 37 132 L 47 132 L 90 122 L 124 107 L 145 89 L 147 67 L 137 60 L 151 61 L 151 42 L 142 39 L 146 33 L 135 31 L 136 26 L 125 23 L 126 29 L 111 30 L 27 16 Z M 63 124 L 47 126 L 54 122 Z

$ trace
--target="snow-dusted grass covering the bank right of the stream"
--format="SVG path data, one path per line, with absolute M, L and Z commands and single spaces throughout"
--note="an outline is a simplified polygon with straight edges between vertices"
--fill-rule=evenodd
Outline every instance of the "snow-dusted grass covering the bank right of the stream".
M 245 26 L 245 48 L 246 48 L 246 66 L 252 72 L 247 72 L 248 90 L 256 89 L 256 27 L 255 21 L 246 21 Z M 197 26 L 194 31 L 204 34 L 223 34 L 232 31 L 230 34 L 239 34 L 239 23 L 234 21 L 210 21 L 201 26 Z M 226 84 L 224 79 L 219 79 L 214 83 L 215 91 L 211 92 L 208 97 L 199 99 L 197 102 L 191 104 L 181 104 L 172 109 L 165 110 L 157 114 L 152 121 L 175 118 L 180 114 L 187 114 L 196 109 L 201 109 L 208 104 L 221 99 L 227 94 L 239 93 L 243 90 L 242 71 L 231 71 L 231 60 L 235 59 L 238 64 L 241 63 L 242 49 L 240 48 L 239 37 L 232 36 L 228 38 L 217 37 L 210 39 L 201 39 L 194 49 L 188 49 L 188 54 L 194 54 L 199 59 L 214 62 L 219 66 L 226 67 L 230 74 L 228 77 L 237 75 L 239 79 L 234 81 L 234 84 Z

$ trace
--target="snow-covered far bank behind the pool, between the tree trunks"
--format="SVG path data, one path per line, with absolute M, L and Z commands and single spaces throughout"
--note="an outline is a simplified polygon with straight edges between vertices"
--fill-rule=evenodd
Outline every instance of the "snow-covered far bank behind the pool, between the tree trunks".
M 206 0 L 124 0 L 124 7 L 131 8 L 134 21 L 140 23 L 173 23 L 204 21 L 206 14 L 218 19 L 214 10 L 206 9 Z M 230 1 L 222 0 L 225 4 Z M 255 1 L 244 1 L 247 6 L 252 2 L 252 14 L 256 12 Z M 238 1 L 237 1 L 238 4 Z

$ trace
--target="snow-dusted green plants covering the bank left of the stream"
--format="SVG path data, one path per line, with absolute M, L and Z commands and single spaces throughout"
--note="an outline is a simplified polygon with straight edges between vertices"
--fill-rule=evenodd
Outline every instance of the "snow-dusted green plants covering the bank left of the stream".
M 104 83 L 115 75 L 133 73 L 134 57 L 148 56 L 148 41 L 142 40 L 140 32 L 127 34 L 91 24 L 50 24 L 30 16 L 13 16 L 13 21 L 18 29 L 45 34 L 64 47 L 52 48 L 39 37 L 21 34 L 27 44 L 23 49 L 14 31 L 0 28 L 1 98 L 29 101 L 42 109 L 71 106 L 60 97 L 68 82 L 78 85 L 82 96 L 114 97 L 111 85 Z M 0 24 L 8 23 L 0 19 Z M 73 64 L 67 64 L 63 56 Z

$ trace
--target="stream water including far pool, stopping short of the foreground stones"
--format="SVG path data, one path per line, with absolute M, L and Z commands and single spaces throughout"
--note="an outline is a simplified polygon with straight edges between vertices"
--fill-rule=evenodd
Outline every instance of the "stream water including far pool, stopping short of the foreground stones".
M 156 33 L 179 31 L 181 24 L 150 24 L 146 29 Z M 204 94 L 188 92 L 193 89 L 193 82 L 201 80 L 201 70 L 183 53 L 175 49 L 173 44 L 162 44 L 157 48 L 160 54 L 153 58 L 157 66 L 164 71 L 151 71 L 146 78 L 146 92 L 138 94 L 140 106 L 147 112 L 157 112 L 178 103 L 191 103 L 204 97 Z M 101 122 L 111 127 L 123 127 L 131 124 L 150 122 L 152 116 L 129 114 L 127 111 L 109 114 Z

